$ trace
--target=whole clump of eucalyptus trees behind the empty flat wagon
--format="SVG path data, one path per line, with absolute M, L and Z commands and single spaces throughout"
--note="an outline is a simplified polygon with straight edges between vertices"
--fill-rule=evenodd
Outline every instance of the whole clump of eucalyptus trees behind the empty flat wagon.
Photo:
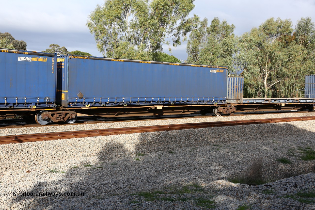
M 301 18 L 293 30 L 290 20 L 270 18 L 240 37 L 235 64 L 244 96 L 294 97 L 295 85 L 315 73 L 315 24 Z

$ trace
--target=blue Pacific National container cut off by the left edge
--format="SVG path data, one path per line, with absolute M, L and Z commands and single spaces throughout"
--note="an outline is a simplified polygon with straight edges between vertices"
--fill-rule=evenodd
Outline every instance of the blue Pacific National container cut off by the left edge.
M 0 49 L 0 108 L 55 107 L 56 54 Z

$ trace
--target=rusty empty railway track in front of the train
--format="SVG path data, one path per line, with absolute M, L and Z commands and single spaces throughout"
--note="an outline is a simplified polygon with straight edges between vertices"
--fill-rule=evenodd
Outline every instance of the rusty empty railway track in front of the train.
M 209 127 L 220 127 L 220 126 L 231 126 L 231 125 L 251 125 L 251 124 L 265 124 L 265 123 L 277 123 L 277 122 L 292 122 L 292 121 L 302 121 L 302 120 L 315 120 L 315 116 L 270 118 L 270 119 L 255 119 L 255 120 L 233 120 L 233 121 L 218 121 L 218 122 L 204 122 L 204 123 L 154 125 L 154 126 L 127 127 L 127 128 L 12 135 L 12 136 L 1 136 L 0 144 L 35 142 L 35 141 L 68 139 L 68 138 L 95 137 L 95 136 L 110 136 L 110 135 L 130 134 L 130 133 L 155 132 L 155 131 L 172 131 L 172 130 L 183 130 L 183 129 L 209 128 Z

